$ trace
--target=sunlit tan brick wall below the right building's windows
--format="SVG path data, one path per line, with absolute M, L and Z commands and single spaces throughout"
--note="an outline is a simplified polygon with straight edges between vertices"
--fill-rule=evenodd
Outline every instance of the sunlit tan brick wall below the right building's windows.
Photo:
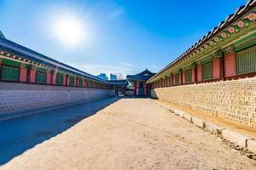
M 155 88 L 151 95 L 171 105 L 256 127 L 256 77 Z

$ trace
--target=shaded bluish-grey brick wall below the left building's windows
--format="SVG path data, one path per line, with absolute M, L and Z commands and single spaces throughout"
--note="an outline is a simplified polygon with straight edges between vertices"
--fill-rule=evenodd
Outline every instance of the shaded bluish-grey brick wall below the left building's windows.
M 0 114 L 113 96 L 113 89 L 0 82 Z

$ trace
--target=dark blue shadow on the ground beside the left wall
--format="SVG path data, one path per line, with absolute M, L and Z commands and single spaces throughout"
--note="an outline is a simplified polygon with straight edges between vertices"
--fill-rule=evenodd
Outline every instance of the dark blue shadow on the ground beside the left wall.
M 0 122 L 0 165 L 113 104 L 109 98 Z

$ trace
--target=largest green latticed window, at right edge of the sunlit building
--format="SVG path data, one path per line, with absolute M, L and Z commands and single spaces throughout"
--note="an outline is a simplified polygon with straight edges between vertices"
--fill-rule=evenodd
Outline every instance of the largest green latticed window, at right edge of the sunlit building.
M 244 74 L 256 71 L 256 46 L 236 54 L 237 73 Z

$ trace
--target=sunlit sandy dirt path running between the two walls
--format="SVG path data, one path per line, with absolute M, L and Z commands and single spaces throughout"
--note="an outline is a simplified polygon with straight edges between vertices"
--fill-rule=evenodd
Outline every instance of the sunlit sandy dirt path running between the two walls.
M 120 99 L 0 169 L 256 169 L 151 99 Z

